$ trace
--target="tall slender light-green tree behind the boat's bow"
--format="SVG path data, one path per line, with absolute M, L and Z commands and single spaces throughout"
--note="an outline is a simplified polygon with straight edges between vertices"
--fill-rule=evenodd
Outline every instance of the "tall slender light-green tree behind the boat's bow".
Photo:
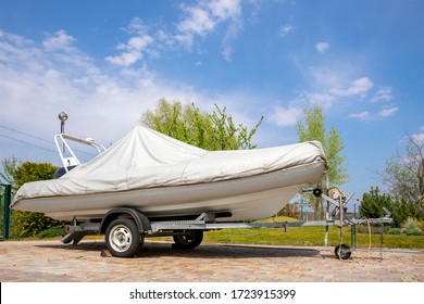
M 326 131 L 325 116 L 320 106 L 304 109 L 303 121 L 298 121 L 296 124 L 296 132 L 299 141 L 317 140 L 323 144 L 325 156 L 328 163 L 327 178 L 331 185 L 344 185 L 349 179 L 347 174 L 347 165 L 345 157 L 340 154 L 345 145 L 339 132 L 334 128 Z M 328 186 L 331 186 L 328 185 Z M 316 185 L 321 189 L 326 189 L 326 182 Z M 320 198 L 314 198 L 310 194 L 303 194 L 312 202 L 315 217 L 321 218 L 324 214 Z

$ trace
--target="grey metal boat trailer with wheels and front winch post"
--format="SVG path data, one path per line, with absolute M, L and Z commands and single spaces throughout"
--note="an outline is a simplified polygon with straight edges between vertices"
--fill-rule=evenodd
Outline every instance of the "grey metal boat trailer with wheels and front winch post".
M 149 237 L 173 237 L 174 248 L 195 249 L 203 240 L 203 231 L 240 228 L 284 228 L 325 226 L 325 244 L 327 243 L 328 227 L 336 226 L 340 229 L 339 244 L 335 248 L 337 258 L 347 259 L 356 250 L 357 225 L 381 225 L 391 223 L 390 213 L 385 210 L 386 216 L 381 218 L 348 219 L 345 215 L 345 206 L 353 197 L 346 198 L 338 188 L 331 188 L 326 193 L 321 189 L 304 190 L 327 202 L 326 219 L 315 221 L 275 221 L 275 223 L 220 223 L 215 213 L 204 212 L 194 219 L 150 220 L 140 211 L 127 207 L 113 208 L 97 223 L 79 223 L 74 218 L 72 223 L 63 225 L 63 243 L 73 242 L 74 245 L 90 231 L 105 235 L 105 245 L 111 255 L 116 257 L 135 256 Z M 351 227 L 351 245 L 341 243 L 342 227 Z M 381 229 L 383 242 L 383 229 Z

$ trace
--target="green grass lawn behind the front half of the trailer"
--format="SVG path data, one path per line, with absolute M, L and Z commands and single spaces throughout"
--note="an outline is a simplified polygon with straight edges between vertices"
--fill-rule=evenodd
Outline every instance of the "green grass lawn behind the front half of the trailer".
M 294 221 L 289 218 L 276 218 L 276 221 Z M 273 221 L 267 219 L 266 221 Z M 328 245 L 339 243 L 340 230 L 338 227 L 329 227 Z M 232 244 L 265 244 L 265 245 L 324 245 L 325 227 L 288 227 L 274 229 L 223 229 L 204 233 L 204 242 L 232 243 Z M 342 243 L 351 244 L 350 226 L 344 227 Z M 357 246 L 369 248 L 370 235 L 357 232 Z M 371 235 L 371 246 L 379 248 L 381 235 Z M 424 236 L 387 235 L 384 233 L 383 246 L 424 249 Z

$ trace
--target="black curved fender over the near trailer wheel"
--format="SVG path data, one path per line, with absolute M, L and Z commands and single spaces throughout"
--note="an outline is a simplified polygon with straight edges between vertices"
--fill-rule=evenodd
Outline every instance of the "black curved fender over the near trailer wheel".
M 137 225 L 138 231 L 140 235 L 147 235 L 151 232 L 151 225 L 149 218 L 146 217 L 141 212 L 134 208 L 120 207 L 110 210 L 107 215 L 103 217 L 100 224 L 100 232 L 104 233 L 108 229 L 108 226 L 119 217 L 128 217 L 132 218 Z

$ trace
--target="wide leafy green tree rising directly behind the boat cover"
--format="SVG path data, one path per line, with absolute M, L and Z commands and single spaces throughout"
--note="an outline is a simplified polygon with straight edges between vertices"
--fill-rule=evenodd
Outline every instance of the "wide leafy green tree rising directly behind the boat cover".
M 226 109 L 215 105 L 212 114 L 202 113 L 199 107 L 185 105 L 178 101 L 161 99 L 154 111 L 141 116 L 141 124 L 189 144 L 205 150 L 253 149 L 251 139 L 257 126 L 249 130 L 242 124 L 236 125 Z

